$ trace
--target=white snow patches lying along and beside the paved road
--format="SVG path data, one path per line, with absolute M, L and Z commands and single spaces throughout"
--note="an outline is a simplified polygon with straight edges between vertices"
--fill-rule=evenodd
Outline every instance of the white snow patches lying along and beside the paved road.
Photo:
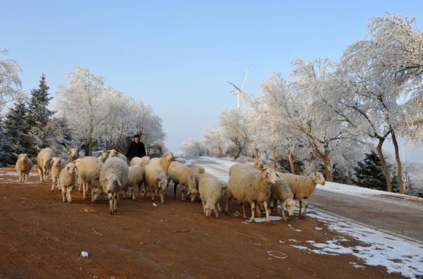
M 228 168 L 235 164 L 231 159 L 209 157 L 189 158 L 186 161 L 187 163 L 197 163 L 203 166 L 207 173 L 223 181 L 228 181 Z M 410 199 L 410 197 L 401 194 L 370 190 L 334 182 L 328 182 L 324 186 L 319 185 L 317 190 L 336 193 L 338 195 L 341 194 L 342 197 L 345 197 L 345 200 L 350 199 L 349 197 L 359 197 L 360 199 L 372 199 L 375 204 L 378 202 L 391 202 L 407 204 L 410 206 L 410 211 L 416 209 L 418 211 L 423 210 L 422 199 Z M 360 208 L 361 205 L 355 204 L 355 206 Z M 291 246 L 301 249 L 306 253 L 331 256 L 353 254 L 369 266 L 385 266 L 388 273 L 397 272 L 408 278 L 417 278 L 423 275 L 423 243 L 419 240 L 404 237 L 403 235 L 381 228 L 375 228 L 373 225 L 345 218 L 345 216 L 339 216 L 333 211 L 329 212 L 323 209 L 316 209 L 312 204 L 310 207 L 312 209 L 309 210 L 308 217 L 321 221 L 329 230 L 350 235 L 350 237 L 362 242 L 363 245 L 348 247 L 348 245 L 343 245 L 343 242 L 348 242 L 348 240 L 338 237 L 324 243 L 317 243 L 314 240 L 300 243 L 298 240 L 292 240 L 293 243 Z M 276 220 L 277 218 L 274 221 Z M 321 230 L 321 228 L 316 228 L 316 230 Z M 355 262 L 351 262 L 351 264 L 356 268 L 365 268 L 365 266 L 361 266 Z

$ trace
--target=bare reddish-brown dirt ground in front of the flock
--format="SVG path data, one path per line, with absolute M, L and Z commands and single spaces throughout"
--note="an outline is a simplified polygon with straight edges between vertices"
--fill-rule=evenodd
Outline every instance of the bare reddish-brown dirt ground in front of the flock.
M 288 221 L 298 232 L 281 221 L 207 218 L 200 202 L 171 197 L 158 206 L 147 198 L 121 200 L 119 214 L 110 216 L 106 199 L 91 204 L 74 192 L 73 204 L 63 203 L 50 185 L 11 182 L 16 177 L 5 171 L 13 168 L 0 168 L 1 278 L 400 278 L 354 256 L 290 247 L 289 239 L 305 245 L 342 236 L 311 218 Z M 233 202 L 232 212 L 237 210 Z M 82 258 L 82 250 L 90 257 Z M 288 258 L 273 258 L 269 250 Z

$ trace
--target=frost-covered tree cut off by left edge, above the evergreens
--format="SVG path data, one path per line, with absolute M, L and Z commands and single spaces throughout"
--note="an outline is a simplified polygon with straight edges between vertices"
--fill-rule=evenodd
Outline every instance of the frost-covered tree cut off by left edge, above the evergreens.
M 6 49 L 0 49 L 0 56 L 7 56 Z M 20 92 L 21 82 L 18 77 L 20 67 L 12 59 L 0 59 L 0 112 L 4 105 L 22 96 Z

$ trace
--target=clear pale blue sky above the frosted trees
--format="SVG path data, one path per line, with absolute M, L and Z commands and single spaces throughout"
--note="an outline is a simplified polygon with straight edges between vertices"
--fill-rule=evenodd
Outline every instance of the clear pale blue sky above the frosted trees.
M 240 85 L 247 66 L 247 91 L 259 94 L 295 58 L 337 61 L 385 11 L 423 29 L 423 1 L 1 2 L 0 48 L 23 68 L 23 89 L 45 73 L 55 96 L 66 72 L 90 68 L 151 105 L 173 151 L 236 106 L 226 81 Z

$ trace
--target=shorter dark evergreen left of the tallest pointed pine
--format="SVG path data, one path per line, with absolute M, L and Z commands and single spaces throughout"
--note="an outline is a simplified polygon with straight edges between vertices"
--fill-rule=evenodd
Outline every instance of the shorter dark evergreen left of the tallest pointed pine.
M 26 153 L 30 157 L 35 156 L 35 147 L 30 136 L 30 125 L 27 123 L 27 106 L 23 100 L 19 100 L 15 106 L 8 111 L 4 120 L 4 130 L 6 137 L 10 139 L 11 149 L 9 154 L 14 162 L 18 154 Z

